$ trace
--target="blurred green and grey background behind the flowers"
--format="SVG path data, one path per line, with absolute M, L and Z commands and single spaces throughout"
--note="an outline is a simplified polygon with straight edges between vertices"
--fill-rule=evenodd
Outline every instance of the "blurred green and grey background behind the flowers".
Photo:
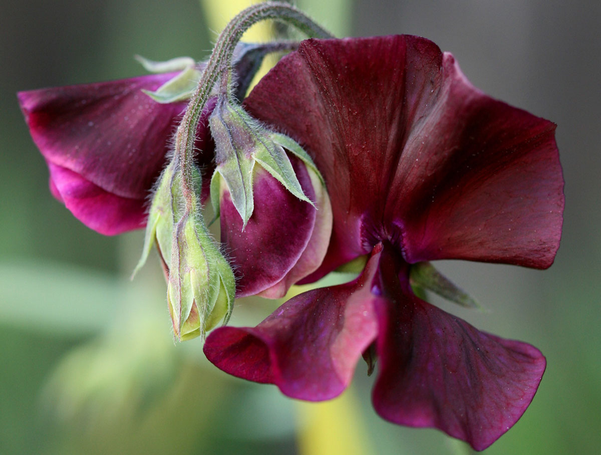
M 18 90 L 142 73 L 210 50 L 247 2 L 2 0 L 0 19 L 1 454 L 467 454 L 436 430 L 371 409 L 359 365 L 341 399 L 307 405 L 228 377 L 199 342 L 175 345 L 156 261 L 128 277 L 142 233 L 103 237 L 47 189 Z M 544 272 L 445 261 L 489 310 L 451 311 L 548 359 L 523 418 L 486 454 L 601 453 L 600 2 L 302 0 L 337 35 L 409 33 L 454 53 L 492 96 L 558 124 L 566 178 L 560 251 Z M 243 301 L 233 325 L 273 302 Z

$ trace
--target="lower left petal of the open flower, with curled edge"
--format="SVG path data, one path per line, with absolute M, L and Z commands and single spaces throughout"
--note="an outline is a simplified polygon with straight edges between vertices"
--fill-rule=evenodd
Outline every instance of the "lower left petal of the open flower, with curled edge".
M 376 337 L 376 269 L 377 256 L 355 282 L 298 295 L 255 328 L 215 329 L 204 353 L 225 372 L 273 383 L 289 397 L 331 399 L 349 385 Z

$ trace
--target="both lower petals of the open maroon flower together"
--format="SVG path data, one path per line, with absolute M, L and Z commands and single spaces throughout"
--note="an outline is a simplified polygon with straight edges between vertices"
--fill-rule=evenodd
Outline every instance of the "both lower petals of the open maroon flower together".
M 528 408 L 545 358 L 416 298 L 408 270 L 392 245 L 380 243 L 355 281 L 298 295 L 255 328 L 216 329 L 204 352 L 234 376 L 326 400 L 343 391 L 374 343 L 378 414 L 483 450 Z

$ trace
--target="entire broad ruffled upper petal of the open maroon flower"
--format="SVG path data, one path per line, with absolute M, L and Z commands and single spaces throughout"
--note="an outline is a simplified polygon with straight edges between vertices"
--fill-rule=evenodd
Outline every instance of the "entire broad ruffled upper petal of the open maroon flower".
M 305 41 L 246 109 L 299 140 L 326 180 L 334 230 L 315 278 L 380 240 L 411 262 L 554 258 L 563 210 L 554 125 L 472 87 L 431 41 Z

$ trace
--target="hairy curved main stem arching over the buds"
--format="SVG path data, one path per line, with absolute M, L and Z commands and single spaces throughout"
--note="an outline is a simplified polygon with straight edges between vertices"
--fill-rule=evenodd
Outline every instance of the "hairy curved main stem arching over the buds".
M 189 215 L 194 207 L 196 195 L 192 182 L 192 160 L 194 158 L 194 142 L 198 122 L 204 105 L 219 76 L 232 78 L 231 60 L 234 47 L 244 32 L 257 22 L 266 19 L 278 19 L 290 23 L 310 37 L 333 38 L 333 35 L 317 25 L 304 13 L 293 6 L 281 2 L 264 2 L 246 8 L 225 26 L 219 35 L 203 77 L 188 104 L 182 123 L 175 133 L 175 153 L 173 160 L 182 171 L 182 191 L 186 200 L 183 217 Z M 228 81 L 227 87 L 231 87 Z

